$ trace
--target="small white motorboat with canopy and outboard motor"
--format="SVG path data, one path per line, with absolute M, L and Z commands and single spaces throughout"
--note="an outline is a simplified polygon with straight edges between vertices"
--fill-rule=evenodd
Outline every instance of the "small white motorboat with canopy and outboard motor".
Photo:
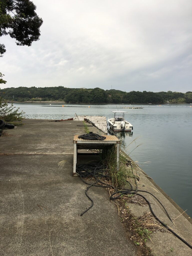
M 114 132 L 131 132 L 133 125 L 124 119 L 124 113 L 126 111 L 111 111 L 114 113 L 114 118 L 110 118 L 107 121 L 107 128 Z

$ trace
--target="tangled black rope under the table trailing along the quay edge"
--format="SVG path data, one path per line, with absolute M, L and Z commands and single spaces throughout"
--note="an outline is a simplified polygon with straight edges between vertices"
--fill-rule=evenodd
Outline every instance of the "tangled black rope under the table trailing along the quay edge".
M 81 135 L 82 136 L 82 135 Z M 132 165 L 131 165 L 132 167 Z M 119 190 L 118 188 L 115 188 L 113 187 L 112 185 L 110 184 L 106 184 L 105 182 L 102 182 L 100 180 L 100 178 L 106 178 L 106 179 L 110 179 L 109 175 L 106 175 L 104 173 L 104 171 L 106 170 L 106 166 L 104 166 L 103 164 L 79 164 L 79 165 L 76 165 L 76 172 L 80 175 L 82 181 L 89 185 L 85 191 L 85 194 L 86 196 L 89 198 L 89 200 L 91 201 L 91 205 L 89 206 L 89 208 L 87 208 L 85 211 L 83 211 L 80 216 L 82 216 L 84 213 L 86 213 L 88 210 L 90 210 L 93 205 L 94 205 L 94 202 L 93 202 L 93 199 L 90 198 L 90 196 L 88 195 L 88 190 L 90 187 L 92 186 L 95 186 L 95 187 L 103 187 L 103 188 L 113 188 L 115 189 L 116 191 L 110 196 L 110 199 L 111 200 L 115 200 L 119 197 L 121 197 L 122 195 L 127 195 L 127 194 L 135 194 L 135 195 L 138 195 L 138 196 L 141 196 L 148 204 L 150 210 L 151 210 L 151 213 L 153 214 L 153 216 L 165 227 L 167 228 L 171 233 L 173 233 L 177 238 L 179 238 L 182 242 L 184 242 L 189 248 L 192 249 L 192 246 L 187 242 L 185 241 L 182 237 L 180 237 L 178 234 L 176 234 L 171 228 L 169 228 L 164 222 L 162 222 L 154 213 L 152 207 L 151 207 L 151 203 L 147 200 L 147 198 L 141 194 L 139 194 L 138 192 L 144 192 L 144 193 L 148 193 L 150 195 L 152 195 L 158 202 L 159 204 L 161 204 L 161 206 L 163 207 L 163 209 L 165 210 L 169 220 L 171 222 L 172 219 L 170 218 L 167 210 L 165 209 L 165 207 L 163 206 L 163 204 L 156 198 L 156 196 L 154 196 L 152 193 L 146 191 L 146 190 L 139 190 L 138 187 L 137 187 L 137 182 L 136 182 L 136 178 L 134 176 L 134 179 L 135 179 L 135 186 L 136 186 L 136 189 L 133 189 L 133 186 L 131 185 L 130 182 L 127 181 L 127 184 L 130 186 L 130 188 L 123 188 L 121 190 Z M 133 172 L 133 169 L 132 169 L 132 172 Z M 88 183 L 86 180 L 84 180 L 83 178 L 94 178 L 96 180 L 96 182 L 93 182 L 93 183 Z M 98 185 L 98 183 L 100 184 L 103 184 L 103 185 Z M 116 195 L 116 196 L 114 196 Z

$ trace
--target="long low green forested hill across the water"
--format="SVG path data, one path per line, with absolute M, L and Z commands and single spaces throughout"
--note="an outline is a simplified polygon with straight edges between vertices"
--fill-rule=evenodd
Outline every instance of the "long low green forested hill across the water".
M 192 92 L 123 92 L 120 90 L 75 89 L 59 87 L 18 87 L 0 90 L 0 96 L 8 101 L 64 101 L 66 103 L 124 103 L 124 104 L 158 104 L 192 103 Z

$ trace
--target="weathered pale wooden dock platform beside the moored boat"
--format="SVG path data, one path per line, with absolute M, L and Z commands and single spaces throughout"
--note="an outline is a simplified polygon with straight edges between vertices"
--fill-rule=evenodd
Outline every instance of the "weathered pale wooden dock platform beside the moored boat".
M 106 116 L 75 116 L 73 120 L 79 120 L 79 121 L 84 121 L 84 119 L 88 119 L 90 122 L 94 123 L 94 125 L 102 130 L 104 133 L 107 133 L 107 121 L 106 121 Z

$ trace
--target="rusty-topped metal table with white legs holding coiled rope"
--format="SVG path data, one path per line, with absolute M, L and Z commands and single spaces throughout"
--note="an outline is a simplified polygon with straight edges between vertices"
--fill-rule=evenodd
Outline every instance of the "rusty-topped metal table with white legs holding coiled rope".
M 117 169 L 119 169 L 119 150 L 120 140 L 114 135 L 105 135 L 106 139 L 99 140 L 83 140 L 78 138 L 79 135 L 75 135 L 73 138 L 73 176 L 76 176 L 76 164 L 78 149 L 102 149 L 105 145 L 117 145 Z M 94 154 L 94 153 L 93 153 Z

